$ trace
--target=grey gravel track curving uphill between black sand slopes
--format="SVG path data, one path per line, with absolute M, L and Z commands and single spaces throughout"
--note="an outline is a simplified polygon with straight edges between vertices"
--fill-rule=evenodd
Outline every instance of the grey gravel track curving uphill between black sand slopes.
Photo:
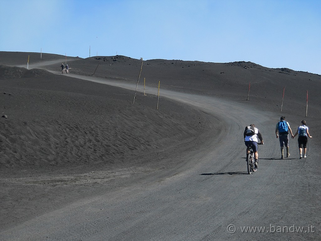
M 87 76 L 68 76 L 133 90 L 136 87 Z M 146 92 L 157 94 L 157 89 L 147 88 Z M 173 157 L 174 161 L 185 158 L 186 168 L 162 180 L 133 183 L 121 191 L 71 203 L 5 230 L 1 233 L 2 239 L 302 240 L 308 235 L 314 239 L 312 234 L 302 237 L 299 233 L 245 233 L 240 230 L 242 226 L 270 228 L 270 225 L 302 226 L 305 221 L 311 222 L 308 217 L 298 220 L 288 211 L 293 200 L 285 195 L 300 192 L 298 189 L 303 187 L 293 187 L 300 181 L 299 175 L 291 172 L 293 165 L 277 159 L 279 145 L 274 137 L 274 127 L 279 115 L 211 97 L 162 89 L 160 95 L 213 115 L 204 137 L 204 148 Z M 265 145 L 259 147 L 259 170 L 247 175 L 242 133 L 252 122 L 261 130 Z M 304 207 L 298 208 L 305 211 Z M 236 228 L 235 233 L 228 232 L 229 225 L 230 232 Z

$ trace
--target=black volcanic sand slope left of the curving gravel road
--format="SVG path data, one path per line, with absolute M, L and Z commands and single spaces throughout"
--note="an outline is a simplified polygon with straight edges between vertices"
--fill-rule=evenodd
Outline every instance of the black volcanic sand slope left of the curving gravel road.
M 0 79 L 2 228 L 94 195 L 101 170 L 118 188 L 134 173 L 182 165 L 170 156 L 202 143 L 207 114 L 166 98 L 157 110 L 156 96 L 137 93 L 133 104 L 134 91 L 42 69 L 2 65 Z

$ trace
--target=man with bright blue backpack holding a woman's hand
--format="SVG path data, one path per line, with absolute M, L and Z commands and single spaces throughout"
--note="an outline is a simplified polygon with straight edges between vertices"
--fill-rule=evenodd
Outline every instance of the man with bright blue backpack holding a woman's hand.
M 289 153 L 289 130 L 291 132 L 291 137 L 293 138 L 292 130 L 290 128 L 289 122 L 285 121 L 285 117 L 281 116 L 280 121 L 276 123 L 275 135 L 276 138 L 280 140 L 281 147 L 281 159 L 284 159 L 283 148 L 286 147 L 286 157 L 290 156 Z

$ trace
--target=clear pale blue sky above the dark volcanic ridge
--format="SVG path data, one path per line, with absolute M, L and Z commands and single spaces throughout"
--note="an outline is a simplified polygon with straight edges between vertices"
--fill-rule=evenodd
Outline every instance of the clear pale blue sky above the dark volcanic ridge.
M 125 55 L 321 74 L 319 0 L 2 0 L 1 51 Z

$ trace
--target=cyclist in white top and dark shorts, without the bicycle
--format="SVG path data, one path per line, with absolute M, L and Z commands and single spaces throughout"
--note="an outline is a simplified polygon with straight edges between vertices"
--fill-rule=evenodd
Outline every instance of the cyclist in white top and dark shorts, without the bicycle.
M 252 146 L 252 150 L 254 152 L 254 159 L 255 159 L 255 164 L 254 168 L 257 169 L 257 163 L 258 163 L 258 153 L 257 153 L 257 141 L 260 139 L 260 145 L 263 145 L 263 138 L 261 135 L 261 132 L 259 129 L 255 127 L 254 124 L 251 124 L 245 128 L 244 131 L 244 142 L 245 145 L 247 146 L 246 148 L 246 161 L 248 161 L 248 154 L 250 153 L 249 146 Z

